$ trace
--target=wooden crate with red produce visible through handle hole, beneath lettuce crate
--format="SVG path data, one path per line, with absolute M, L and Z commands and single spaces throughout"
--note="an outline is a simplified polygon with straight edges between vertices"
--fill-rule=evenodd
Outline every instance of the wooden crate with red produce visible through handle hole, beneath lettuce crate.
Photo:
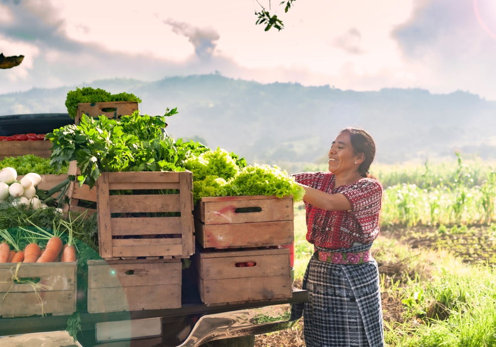
M 237 263 L 255 262 L 253 267 Z M 239 303 L 291 297 L 289 249 L 225 251 L 197 250 L 193 263 L 198 291 L 205 304 Z

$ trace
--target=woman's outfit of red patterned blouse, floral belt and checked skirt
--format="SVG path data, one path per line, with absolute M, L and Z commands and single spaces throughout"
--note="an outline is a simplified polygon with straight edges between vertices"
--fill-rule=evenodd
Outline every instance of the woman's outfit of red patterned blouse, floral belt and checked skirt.
M 326 211 L 305 202 L 307 240 L 315 248 L 303 279 L 310 301 L 293 310 L 304 309 L 307 347 L 384 346 L 379 274 L 370 254 L 379 233 L 381 184 L 362 178 L 334 188 L 333 173 L 294 177 L 326 193 L 343 194 L 352 206 L 350 211 Z

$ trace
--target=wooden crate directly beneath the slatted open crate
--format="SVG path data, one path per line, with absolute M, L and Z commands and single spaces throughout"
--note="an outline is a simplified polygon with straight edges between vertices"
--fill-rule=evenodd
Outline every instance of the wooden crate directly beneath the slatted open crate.
M 181 259 L 88 260 L 88 312 L 181 307 Z

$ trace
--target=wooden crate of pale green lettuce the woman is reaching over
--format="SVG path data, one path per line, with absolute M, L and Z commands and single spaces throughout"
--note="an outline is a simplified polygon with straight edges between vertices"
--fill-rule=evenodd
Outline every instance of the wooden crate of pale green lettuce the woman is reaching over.
M 246 208 L 259 212 L 242 213 Z M 194 216 L 196 240 L 204 248 L 285 245 L 294 241 L 292 197 L 206 197 L 196 204 Z

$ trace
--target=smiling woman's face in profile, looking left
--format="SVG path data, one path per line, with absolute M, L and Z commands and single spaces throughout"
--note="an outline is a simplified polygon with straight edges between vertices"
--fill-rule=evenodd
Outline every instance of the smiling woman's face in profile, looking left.
M 351 145 L 350 133 L 340 133 L 329 150 L 329 171 L 331 173 L 344 173 L 357 171 L 363 162 L 363 153 L 354 154 Z M 355 164 L 357 162 L 357 164 Z

